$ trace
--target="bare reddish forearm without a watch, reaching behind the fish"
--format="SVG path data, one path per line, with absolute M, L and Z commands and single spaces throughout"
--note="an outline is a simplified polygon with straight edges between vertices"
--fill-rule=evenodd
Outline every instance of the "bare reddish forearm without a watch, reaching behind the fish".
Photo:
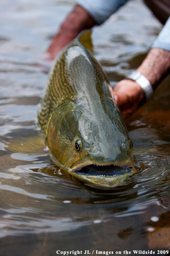
M 96 22 L 81 6 L 76 5 L 61 25 L 47 50 L 51 60 L 83 30 L 92 28 Z

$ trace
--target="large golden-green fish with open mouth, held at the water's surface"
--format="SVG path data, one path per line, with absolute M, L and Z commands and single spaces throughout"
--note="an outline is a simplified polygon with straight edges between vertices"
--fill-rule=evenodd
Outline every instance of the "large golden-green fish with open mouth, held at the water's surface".
M 91 187 L 110 189 L 137 171 L 111 86 L 89 50 L 90 33 L 80 34 L 56 57 L 38 122 L 57 165 Z

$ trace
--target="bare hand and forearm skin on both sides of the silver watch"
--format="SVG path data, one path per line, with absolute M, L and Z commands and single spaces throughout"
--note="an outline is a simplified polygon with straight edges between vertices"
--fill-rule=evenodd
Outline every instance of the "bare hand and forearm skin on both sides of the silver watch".
M 137 72 L 144 75 L 155 90 L 169 70 L 170 51 L 152 48 L 137 69 Z M 112 93 L 121 109 L 123 118 L 130 116 L 145 101 L 143 89 L 131 79 L 124 79 L 118 82 Z

